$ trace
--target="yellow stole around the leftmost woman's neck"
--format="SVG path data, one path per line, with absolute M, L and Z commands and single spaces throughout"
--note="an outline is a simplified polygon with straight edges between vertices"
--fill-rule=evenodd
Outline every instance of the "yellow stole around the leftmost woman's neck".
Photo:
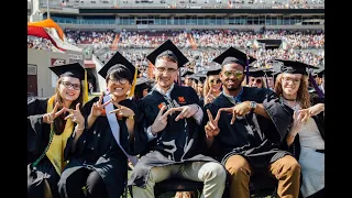
M 52 97 L 51 99 L 48 99 L 46 112 L 50 113 L 53 111 L 54 101 L 55 101 L 55 97 Z M 53 130 L 53 124 L 52 124 L 52 130 Z M 66 120 L 64 132 L 61 135 L 56 135 L 55 133 L 53 134 L 53 140 L 50 143 L 51 145 L 46 152 L 47 158 L 51 161 L 51 163 L 55 167 L 58 175 L 62 175 L 62 172 L 67 164 L 67 162 L 64 162 L 64 150 L 67 143 L 67 139 L 72 135 L 73 131 L 74 131 L 74 123 L 69 118 Z

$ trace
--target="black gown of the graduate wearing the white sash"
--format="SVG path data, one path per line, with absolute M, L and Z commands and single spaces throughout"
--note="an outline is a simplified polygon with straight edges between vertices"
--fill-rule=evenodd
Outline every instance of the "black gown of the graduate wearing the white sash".
M 90 114 L 94 102 L 98 100 L 99 97 L 96 97 L 85 105 L 82 114 L 86 120 Z M 136 114 L 138 109 L 132 100 L 125 99 L 119 103 L 132 109 Z M 118 120 L 120 125 L 120 143 L 125 152 L 135 154 L 134 152 L 138 152 L 138 150 L 134 150 L 134 144 L 129 144 L 130 136 L 125 119 Z M 98 172 L 102 177 L 109 198 L 122 195 L 128 177 L 128 157 L 113 138 L 107 117 L 98 117 L 94 125 L 89 130 L 84 131 L 77 141 L 74 153 L 70 150 L 73 140 L 70 136 L 66 144 L 65 160 L 69 160 L 69 163 L 62 174 L 62 179 L 67 179 L 74 172 L 82 167 L 90 168 Z M 138 140 L 138 134 L 135 134 L 135 140 Z

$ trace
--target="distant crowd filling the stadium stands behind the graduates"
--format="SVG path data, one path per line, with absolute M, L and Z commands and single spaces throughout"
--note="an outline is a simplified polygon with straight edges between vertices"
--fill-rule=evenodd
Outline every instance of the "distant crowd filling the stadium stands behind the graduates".
M 95 52 L 108 48 L 113 44 L 116 33 L 113 31 L 77 31 L 65 30 L 66 37 L 77 46 L 90 45 Z M 191 48 L 191 41 L 185 31 L 127 31 L 120 32 L 118 48 L 135 65 L 146 66 L 145 58 L 153 48 L 170 38 L 190 59 L 189 65 L 207 66 L 226 48 L 233 46 L 246 51 L 251 56 L 257 58 L 257 67 L 267 66 L 274 58 L 296 59 L 310 65 L 323 65 L 324 62 L 324 32 L 298 31 L 298 30 L 265 30 L 261 33 L 253 30 L 193 30 L 190 36 L 196 44 Z M 31 37 L 31 38 L 30 38 Z M 34 37 L 35 38 L 35 37 Z M 255 40 L 282 40 L 286 47 L 276 50 L 255 48 Z M 33 40 L 29 36 L 29 47 L 48 50 L 50 41 L 44 38 Z M 108 51 L 97 55 L 106 63 L 116 51 Z

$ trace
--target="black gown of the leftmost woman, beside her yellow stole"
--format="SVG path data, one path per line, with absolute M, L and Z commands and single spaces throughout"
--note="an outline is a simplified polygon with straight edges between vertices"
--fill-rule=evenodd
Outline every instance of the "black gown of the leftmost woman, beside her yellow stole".
M 55 167 L 46 155 L 40 161 L 35 168 L 31 167 L 48 145 L 51 125 L 43 122 L 43 114 L 46 113 L 48 98 L 36 98 L 28 102 L 26 125 L 28 125 L 28 196 L 44 198 L 44 182 L 51 186 L 52 195 L 58 198 L 57 182 L 59 179 Z

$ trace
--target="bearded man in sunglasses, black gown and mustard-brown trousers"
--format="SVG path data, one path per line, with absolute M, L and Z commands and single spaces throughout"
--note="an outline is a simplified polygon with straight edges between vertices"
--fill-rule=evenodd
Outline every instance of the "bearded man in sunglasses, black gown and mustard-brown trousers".
M 255 59 L 233 47 L 213 59 L 222 66 L 223 91 L 205 107 L 211 156 L 231 175 L 231 198 L 249 198 L 250 178 L 257 173 L 278 180 L 278 197 L 297 198 L 300 166 L 288 152 L 279 148 L 292 123 L 293 110 L 270 89 L 241 86 L 246 61 L 250 64 Z

